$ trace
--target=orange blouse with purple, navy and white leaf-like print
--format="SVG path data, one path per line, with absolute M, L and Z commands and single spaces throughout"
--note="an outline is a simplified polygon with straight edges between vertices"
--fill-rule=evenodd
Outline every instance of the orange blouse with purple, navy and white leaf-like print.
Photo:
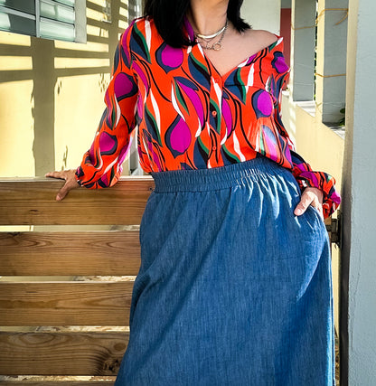
M 186 20 L 191 40 L 194 33 Z M 77 170 L 88 188 L 116 184 L 131 138 L 146 173 L 203 169 L 264 155 L 295 175 L 303 189 L 324 193 L 324 217 L 341 199 L 334 178 L 314 172 L 294 151 L 280 117 L 281 89 L 289 69 L 283 40 L 249 56 L 222 75 L 200 44 L 173 48 L 153 20 L 137 19 L 121 36 L 107 108 L 89 151 Z

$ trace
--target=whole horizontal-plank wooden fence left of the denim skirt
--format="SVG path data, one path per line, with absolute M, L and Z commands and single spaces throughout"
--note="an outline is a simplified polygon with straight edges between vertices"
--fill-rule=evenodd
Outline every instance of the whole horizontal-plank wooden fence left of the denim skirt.
M 126 178 L 55 202 L 61 185 L 0 180 L 0 225 L 9 226 L 0 233 L 2 385 L 113 384 L 127 348 L 135 225 L 153 180 Z M 19 231 L 24 225 L 33 231 Z

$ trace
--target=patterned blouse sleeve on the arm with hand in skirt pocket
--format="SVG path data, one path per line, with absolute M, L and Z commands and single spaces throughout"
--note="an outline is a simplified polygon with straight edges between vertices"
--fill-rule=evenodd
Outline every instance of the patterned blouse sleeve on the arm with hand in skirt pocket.
M 280 55 L 277 59 L 278 61 L 284 61 L 283 55 Z M 283 66 L 280 66 L 283 68 Z M 287 66 L 286 66 L 287 69 Z M 306 187 L 315 187 L 320 189 L 324 194 L 323 199 L 323 212 L 324 218 L 329 217 L 341 203 L 341 196 L 335 190 L 335 179 L 332 175 L 324 172 L 315 172 L 312 170 L 312 167 L 305 162 L 305 160 L 296 153 L 295 146 L 288 137 L 286 128 L 284 127 L 281 119 L 281 99 L 282 99 L 282 89 L 283 86 L 287 83 L 288 80 L 288 70 L 278 72 L 274 76 L 273 81 L 273 94 L 274 94 L 274 118 L 276 125 L 279 131 L 279 134 L 282 137 L 287 139 L 287 145 L 290 149 L 291 161 L 293 165 L 293 174 L 296 178 L 297 184 L 299 184 L 300 189 L 303 191 Z

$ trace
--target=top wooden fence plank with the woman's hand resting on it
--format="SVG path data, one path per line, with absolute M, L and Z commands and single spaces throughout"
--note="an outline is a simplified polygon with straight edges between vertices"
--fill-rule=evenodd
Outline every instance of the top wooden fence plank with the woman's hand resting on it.
M 63 181 L 0 180 L 0 225 L 139 224 L 153 190 L 151 177 L 125 177 L 109 189 L 75 189 L 56 202 Z

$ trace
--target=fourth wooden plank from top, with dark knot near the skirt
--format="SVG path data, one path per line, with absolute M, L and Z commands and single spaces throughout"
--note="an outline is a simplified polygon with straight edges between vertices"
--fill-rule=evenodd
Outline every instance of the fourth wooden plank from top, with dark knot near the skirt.
M 0 333 L 1 375 L 116 375 L 129 333 Z

